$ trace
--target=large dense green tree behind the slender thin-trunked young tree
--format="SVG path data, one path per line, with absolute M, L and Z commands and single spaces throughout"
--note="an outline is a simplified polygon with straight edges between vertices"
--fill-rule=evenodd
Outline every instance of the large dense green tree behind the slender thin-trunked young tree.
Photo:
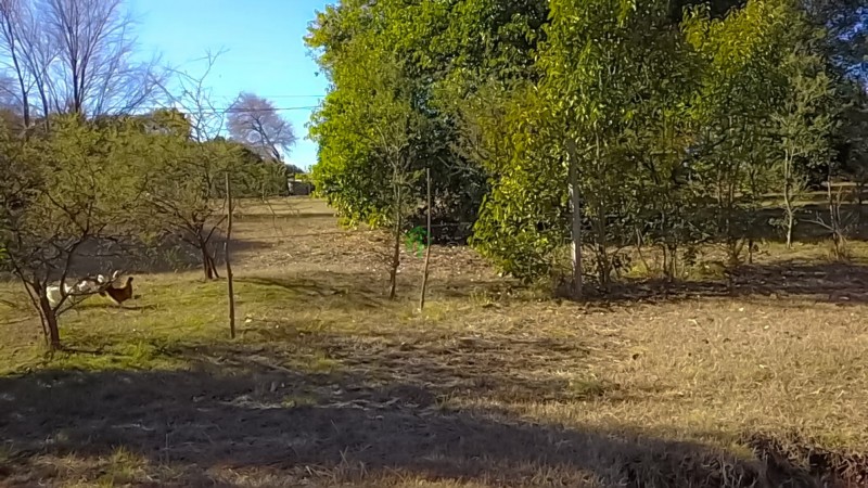
M 526 76 L 533 34 L 546 12 L 541 0 L 347 1 L 321 12 L 307 38 L 332 81 L 311 127 L 320 146 L 312 170 L 318 193 L 348 223 L 376 223 L 390 211 L 388 200 L 375 191 L 388 176 L 375 167 L 374 150 L 345 130 L 365 124 L 346 108 L 370 93 L 355 66 L 368 51 L 378 52 L 400 62 L 412 108 L 427 120 L 413 170 L 431 169 L 435 221 L 474 221 L 488 185 L 478 162 L 469 157 L 464 102 L 476 99 L 487 80 Z M 416 182 L 413 192 L 424 193 L 424 182 Z

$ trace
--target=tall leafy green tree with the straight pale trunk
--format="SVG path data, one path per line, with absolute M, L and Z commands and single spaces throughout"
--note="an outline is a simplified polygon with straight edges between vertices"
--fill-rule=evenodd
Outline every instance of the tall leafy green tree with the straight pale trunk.
M 630 141 L 679 56 L 666 2 L 559 0 L 540 50 L 546 137 L 563 141 L 572 211 L 573 296 L 580 298 L 583 214 L 599 284 L 633 233 Z

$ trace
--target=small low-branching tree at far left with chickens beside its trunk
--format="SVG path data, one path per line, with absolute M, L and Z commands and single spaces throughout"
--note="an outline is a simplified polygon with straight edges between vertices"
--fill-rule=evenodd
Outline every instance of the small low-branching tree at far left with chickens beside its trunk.
M 0 157 L 0 247 L 39 313 L 47 343 L 61 348 L 58 316 L 69 294 L 64 284 L 82 248 L 101 240 L 135 235 L 131 216 L 137 176 L 111 153 L 116 134 L 78 117 L 62 117 L 43 140 L 4 136 Z M 56 283 L 61 300 L 48 288 Z

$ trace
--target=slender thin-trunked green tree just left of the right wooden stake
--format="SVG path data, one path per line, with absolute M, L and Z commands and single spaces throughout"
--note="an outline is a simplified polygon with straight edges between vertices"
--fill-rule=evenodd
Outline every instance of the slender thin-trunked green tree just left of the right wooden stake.
M 311 134 L 319 142 L 314 168 L 318 192 L 327 195 L 345 223 L 367 221 L 390 228 L 390 298 L 397 293 L 400 246 L 408 216 L 422 201 L 418 192 L 430 121 L 418 106 L 408 63 L 367 36 L 347 41 L 332 92 Z

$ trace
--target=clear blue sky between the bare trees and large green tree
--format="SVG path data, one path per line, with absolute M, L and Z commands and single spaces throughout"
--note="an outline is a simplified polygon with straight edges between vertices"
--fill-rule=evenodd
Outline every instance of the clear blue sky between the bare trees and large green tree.
M 244 90 L 281 108 L 317 105 L 327 81 L 316 76 L 302 38 L 315 12 L 336 0 L 131 0 L 139 43 L 173 66 L 199 75 L 210 49 L 221 54 L 207 78 L 215 103 L 227 106 Z M 317 146 L 305 127 L 310 110 L 283 110 L 298 142 L 288 159 L 302 168 L 316 163 Z

